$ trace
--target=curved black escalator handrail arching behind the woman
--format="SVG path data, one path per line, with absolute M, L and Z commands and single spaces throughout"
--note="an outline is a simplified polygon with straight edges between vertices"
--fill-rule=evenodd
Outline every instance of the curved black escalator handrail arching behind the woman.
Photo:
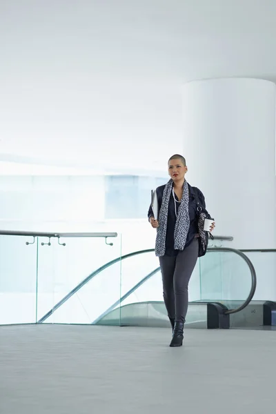
M 54 313 L 61 305 L 63 305 L 68 299 L 70 299 L 70 297 L 72 297 L 72 295 L 75 295 L 75 293 L 77 293 L 77 291 L 79 289 L 81 289 L 84 285 L 86 285 L 88 282 L 90 282 L 90 280 L 97 276 L 99 273 L 101 273 L 103 270 L 105 270 L 106 268 L 112 266 L 112 264 L 115 264 L 121 260 L 124 259 L 128 259 L 128 257 L 133 257 L 136 255 L 141 255 L 143 253 L 151 253 L 154 252 L 155 249 L 154 248 L 148 248 L 146 250 L 137 250 L 136 252 L 132 252 L 132 253 L 128 253 L 127 255 L 124 256 L 120 256 L 117 257 L 116 259 L 111 260 L 110 262 L 104 264 L 103 266 L 99 267 L 97 270 L 95 270 L 93 273 L 91 273 L 88 277 L 86 277 L 85 279 L 83 279 L 82 282 L 80 282 L 79 284 L 77 284 L 77 286 L 75 286 L 74 289 L 70 290 L 70 292 L 64 296 L 57 304 L 55 304 L 55 306 L 52 307 L 52 309 L 50 309 L 50 311 L 48 311 L 45 315 L 43 315 L 43 317 L 41 317 L 39 319 L 39 321 L 37 321 L 38 324 L 41 324 L 42 322 L 44 322 L 46 319 L 48 319 L 48 317 L 50 317 L 52 315 L 52 313 Z M 239 306 L 239 308 L 237 309 L 229 309 L 228 311 L 226 311 L 226 314 L 230 314 L 230 313 L 237 313 L 239 311 L 242 311 L 244 308 L 246 308 L 246 306 L 248 306 L 248 304 L 250 303 L 251 299 L 253 299 L 253 296 L 255 294 L 255 290 L 256 290 L 256 286 L 257 286 L 257 277 L 256 277 L 256 272 L 255 272 L 255 268 L 252 264 L 252 262 L 250 261 L 250 259 L 248 259 L 248 257 L 242 253 L 240 250 L 236 250 L 234 248 L 228 248 L 228 247 L 215 247 L 215 248 L 208 248 L 208 252 L 232 252 L 235 253 L 237 255 L 239 255 L 240 257 L 242 257 L 242 259 L 244 259 L 244 261 L 246 262 L 246 264 L 248 264 L 248 267 L 250 269 L 250 273 L 251 273 L 251 288 L 250 288 L 250 293 L 246 299 L 246 301 L 244 302 L 244 304 L 242 304 L 241 306 Z M 121 299 L 120 299 L 121 302 Z

